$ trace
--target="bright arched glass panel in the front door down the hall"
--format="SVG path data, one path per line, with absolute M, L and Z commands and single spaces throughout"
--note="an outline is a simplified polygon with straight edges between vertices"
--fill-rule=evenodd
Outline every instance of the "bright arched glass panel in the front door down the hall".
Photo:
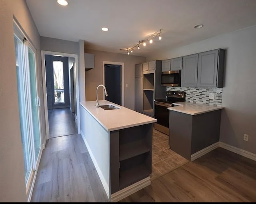
M 64 72 L 63 62 L 54 61 L 53 78 L 54 78 L 54 103 L 64 103 Z

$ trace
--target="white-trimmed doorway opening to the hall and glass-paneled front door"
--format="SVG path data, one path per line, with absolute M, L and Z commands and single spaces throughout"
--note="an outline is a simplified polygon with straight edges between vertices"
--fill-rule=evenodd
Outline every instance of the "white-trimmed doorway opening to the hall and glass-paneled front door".
M 45 108 L 46 139 L 80 134 L 78 55 L 44 50 L 41 51 L 41 54 L 44 107 L 52 106 L 49 109 Z M 51 59 L 48 61 L 47 58 Z M 64 65 L 62 59 L 66 60 L 67 65 Z M 54 62 L 59 65 L 55 64 L 54 66 Z M 63 68 L 60 64 L 63 65 Z M 52 73 L 50 87 L 48 87 L 49 79 L 47 78 L 48 66 Z M 67 66 L 66 73 L 64 73 L 64 66 Z M 63 73 L 63 79 L 60 73 Z M 50 99 L 48 95 L 50 95 Z

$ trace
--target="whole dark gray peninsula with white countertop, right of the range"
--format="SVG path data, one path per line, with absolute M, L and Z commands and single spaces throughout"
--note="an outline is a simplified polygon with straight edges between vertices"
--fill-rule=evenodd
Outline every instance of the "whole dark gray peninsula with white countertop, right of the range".
M 169 120 L 170 149 L 193 161 L 218 147 L 222 106 L 173 103 Z

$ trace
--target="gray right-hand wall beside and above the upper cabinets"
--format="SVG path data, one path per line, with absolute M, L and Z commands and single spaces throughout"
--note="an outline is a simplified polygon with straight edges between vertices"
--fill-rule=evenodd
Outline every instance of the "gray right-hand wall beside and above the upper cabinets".
M 165 60 L 197 52 L 226 49 L 220 141 L 256 154 L 256 26 L 183 46 L 157 50 L 147 60 Z M 164 40 L 164 38 L 163 38 Z M 244 134 L 249 141 L 243 140 Z

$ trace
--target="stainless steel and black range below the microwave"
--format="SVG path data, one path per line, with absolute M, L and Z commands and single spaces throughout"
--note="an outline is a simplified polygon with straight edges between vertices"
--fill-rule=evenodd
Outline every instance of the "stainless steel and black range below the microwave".
M 169 135 L 169 113 L 168 107 L 172 107 L 172 103 L 185 101 L 184 91 L 166 91 L 166 98 L 155 100 L 155 118 L 154 128 Z

